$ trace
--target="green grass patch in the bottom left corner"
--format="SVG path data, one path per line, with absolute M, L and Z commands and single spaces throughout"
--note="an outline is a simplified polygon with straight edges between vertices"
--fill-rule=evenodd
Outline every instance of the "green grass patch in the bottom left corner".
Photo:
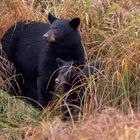
M 22 139 L 23 127 L 35 127 L 42 113 L 17 97 L 0 91 L 0 129 L 9 139 Z

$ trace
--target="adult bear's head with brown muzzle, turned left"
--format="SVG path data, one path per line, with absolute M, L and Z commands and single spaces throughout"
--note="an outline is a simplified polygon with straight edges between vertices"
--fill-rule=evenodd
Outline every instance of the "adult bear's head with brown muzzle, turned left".
M 72 20 L 59 19 L 48 14 L 50 22 L 50 29 L 43 35 L 43 38 L 49 43 L 56 43 L 60 45 L 70 45 L 74 42 L 80 41 L 80 35 L 77 30 L 80 19 L 78 17 Z

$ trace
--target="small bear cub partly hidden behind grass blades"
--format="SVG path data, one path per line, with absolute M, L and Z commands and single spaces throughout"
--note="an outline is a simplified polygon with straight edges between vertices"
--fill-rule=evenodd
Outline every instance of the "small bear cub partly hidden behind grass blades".
M 91 75 L 94 77 L 94 81 L 98 80 L 98 75 L 103 75 L 104 65 L 101 61 L 96 60 L 89 65 L 83 65 L 82 69 L 77 67 L 77 62 L 65 61 L 57 58 L 58 77 L 55 79 L 57 84 L 62 85 L 63 93 L 66 93 L 65 101 L 69 105 L 71 113 L 74 108 L 73 105 L 80 106 L 84 100 L 84 92 L 87 87 L 87 78 Z M 69 116 L 68 109 L 62 107 L 64 113 L 64 119 Z

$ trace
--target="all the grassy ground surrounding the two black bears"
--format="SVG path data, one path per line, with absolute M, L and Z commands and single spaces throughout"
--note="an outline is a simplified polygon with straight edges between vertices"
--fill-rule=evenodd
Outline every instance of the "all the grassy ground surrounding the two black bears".
M 0 37 L 19 20 L 47 22 L 48 12 L 61 18 L 80 17 L 87 61 L 99 59 L 105 64 L 104 79 L 97 83 L 88 79 L 89 100 L 78 123 L 55 118 L 59 102 L 53 110 L 50 106 L 39 112 L 1 91 L 2 139 L 139 140 L 139 0 L 1 0 Z M 5 82 L 0 79 L 1 89 Z

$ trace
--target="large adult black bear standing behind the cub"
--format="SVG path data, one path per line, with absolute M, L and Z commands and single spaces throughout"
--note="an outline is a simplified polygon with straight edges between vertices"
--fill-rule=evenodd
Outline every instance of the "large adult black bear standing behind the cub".
M 3 50 L 14 64 L 22 95 L 47 106 L 52 99 L 58 68 L 57 57 L 85 63 L 78 32 L 79 18 L 59 19 L 48 14 L 50 24 L 18 22 L 1 39 Z

